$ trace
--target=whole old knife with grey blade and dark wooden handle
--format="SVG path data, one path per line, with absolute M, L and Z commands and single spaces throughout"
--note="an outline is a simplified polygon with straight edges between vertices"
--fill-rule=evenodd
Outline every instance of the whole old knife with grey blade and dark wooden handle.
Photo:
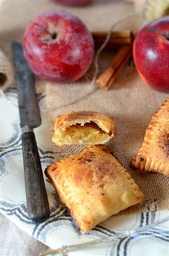
M 12 42 L 12 49 L 21 120 L 27 212 L 32 221 L 42 222 L 49 217 L 50 209 L 34 134 L 34 128 L 41 125 L 34 74 L 27 65 L 22 45 L 18 42 Z

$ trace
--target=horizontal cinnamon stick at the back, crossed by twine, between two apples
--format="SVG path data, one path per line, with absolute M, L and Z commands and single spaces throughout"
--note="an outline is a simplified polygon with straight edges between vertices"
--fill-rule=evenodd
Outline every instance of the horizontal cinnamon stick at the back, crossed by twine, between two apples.
M 107 32 L 92 32 L 94 44 L 99 46 L 104 43 Z M 107 48 L 118 48 L 121 45 L 131 44 L 133 41 L 133 33 L 131 30 L 114 31 L 106 45 Z

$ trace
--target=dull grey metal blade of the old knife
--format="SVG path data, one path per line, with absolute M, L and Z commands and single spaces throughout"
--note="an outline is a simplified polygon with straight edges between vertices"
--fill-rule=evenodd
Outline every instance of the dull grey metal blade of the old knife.
M 41 125 L 41 115 L 35 92 L 34 74 L 27 65 L 22 45 L 13 42 L 12 47 L 15 58 L 21 127 L 30 125 L 36 128 Z

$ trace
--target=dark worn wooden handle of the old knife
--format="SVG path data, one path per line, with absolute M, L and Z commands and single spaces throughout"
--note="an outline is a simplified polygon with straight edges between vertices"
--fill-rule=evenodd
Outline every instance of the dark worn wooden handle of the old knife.
M 42 222 L 49 217 L 50 208 L 33 131 L 22 133 L 22 152 L 27 212 L 32 221 Z

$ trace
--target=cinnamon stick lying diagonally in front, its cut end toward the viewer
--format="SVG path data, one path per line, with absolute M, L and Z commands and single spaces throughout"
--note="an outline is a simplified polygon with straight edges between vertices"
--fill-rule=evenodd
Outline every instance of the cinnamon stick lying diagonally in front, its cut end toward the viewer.
M 121 49 L 112 59 L 111 63 L 108 65 L 108 67 L 96 80 L 96 85 L 99 88 L 107 91 L 112 86 L 119 72 L 122 70 L 122 68 L 126 65 L 130 57 L 132 56 L 132 46 L 133 45 L 130 44 L 121 47 Z

